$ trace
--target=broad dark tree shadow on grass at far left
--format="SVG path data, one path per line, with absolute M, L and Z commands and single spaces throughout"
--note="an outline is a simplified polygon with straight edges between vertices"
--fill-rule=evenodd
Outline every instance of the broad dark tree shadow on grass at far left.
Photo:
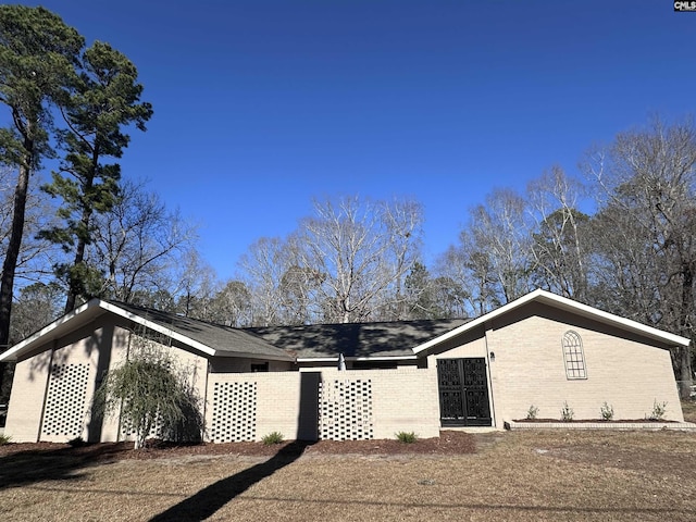
M 41 481 L 79 478 L 80 470 L 113 462 L 126 450 L 123 444 L 99 444 L 11 452 L 0 457 L 0 489 Z

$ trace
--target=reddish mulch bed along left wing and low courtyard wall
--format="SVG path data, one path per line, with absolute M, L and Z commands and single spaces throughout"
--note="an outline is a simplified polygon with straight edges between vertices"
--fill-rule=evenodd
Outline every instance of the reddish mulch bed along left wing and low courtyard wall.
M 285 442 L 275 445 L 263 443 L 225 443 L 176 445 L 161 440 L 148 440 L 144 449 L 134 450 L 133 443 L 100 443 L 71 446 L 58 443 L 10 443 L 0 446 L 0 458 L 18 455 L 46 455 L 76 457 L 94 461 L 124 459 L 158 459 L 166 457 L 234 455 L 272 457 L 279 452 L 306 455 L 461 455 L 476 451 L 473 435 L 464 432 L 440 432 L 436 438 L 422 438 L 414 443 L 396 439 L 373 440 L 319 440 L 315 443 Z

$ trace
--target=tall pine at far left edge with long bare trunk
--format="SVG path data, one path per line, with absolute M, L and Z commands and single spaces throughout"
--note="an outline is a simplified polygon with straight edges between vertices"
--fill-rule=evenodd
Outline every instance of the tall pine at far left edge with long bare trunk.
M 49 157 L 51 103 L 60 103 L 75 75 L 83 37 L 44 8 L 0 5 L 0 103 L 10 124 L 0 128 L 0 162 L 16 169 L 10 237 L 0 274 L 0 352 L 10 343 L 14 276 L 22 249 L 33 172 Z M 0 393 L 7 389 L 0 364 Z M 4 397 L 0 397 L 2 400 Z

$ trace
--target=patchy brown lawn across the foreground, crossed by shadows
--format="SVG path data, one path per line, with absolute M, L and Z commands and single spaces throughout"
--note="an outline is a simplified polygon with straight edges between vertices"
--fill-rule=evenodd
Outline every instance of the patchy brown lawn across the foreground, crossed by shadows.
M 449 451 L 442 440 L 437 451 L 372 440 L 127 459 L 102 445 L 12 450 L 0 456 L 0 520 L 696 519 L 696 433 L 452 437 Z

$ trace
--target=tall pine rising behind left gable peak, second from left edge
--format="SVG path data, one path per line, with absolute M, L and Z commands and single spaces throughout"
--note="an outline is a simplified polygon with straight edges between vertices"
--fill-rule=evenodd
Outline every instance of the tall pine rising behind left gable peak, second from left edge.
M 66 282 L 65 312 L 75 308 L 79 297 L 97 290 L 100 275 L 85 260 L 91 240 L 96 212 L 108 212 L 119 198 L 121 166 L 107 163 L 119 159 L 128 146 L 125 129 L 134 125 L 145 130 L 152 107 L 140 101 L 142 86 L 137 83 L 135 65 L 108 44 L 95 42 L 83 55 L 82 72 L 65 109 L 67 128 L 59 133 L 65 157 L 52 183 L 42 188 L 63 204 L 59 217 L 63 226 L 42 231 L 41 236 L 73 254 L 70 263 L 55 266 Z

